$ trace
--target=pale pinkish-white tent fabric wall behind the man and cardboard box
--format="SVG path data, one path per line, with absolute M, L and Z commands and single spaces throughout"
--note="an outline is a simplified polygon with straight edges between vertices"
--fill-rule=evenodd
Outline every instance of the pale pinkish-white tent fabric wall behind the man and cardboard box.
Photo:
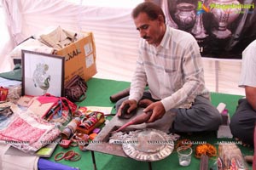
M 78 2 L 78 1 L 75 1 Z M 131 19 L 134 6 L 123 8 L 90 6 L 86 1 L 3 0 L 7 23 L 15 47 L 27 37 L 40 35 L 49 27 L 72 31 L 93 31 L 96 42 L 96 77 L 131 81 L 139 34 Z M 8 50 L 7 50 L 8 52 Z M 207 88 L 212 92 L 244 94 L 237 87 L 239 59 L 203 59 Z

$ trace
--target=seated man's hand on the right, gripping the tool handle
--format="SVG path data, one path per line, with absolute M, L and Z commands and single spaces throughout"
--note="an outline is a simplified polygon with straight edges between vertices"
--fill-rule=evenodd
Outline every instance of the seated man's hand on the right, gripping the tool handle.
M 165 107 L 160 101 L 157 101 L 148 105 L 148 107 L 146 107 L 143 111 L 144 112 L 153 111 L 148 122 L 154 122 L 162 118 L 162 116 L 164 116 L 166 113 Z

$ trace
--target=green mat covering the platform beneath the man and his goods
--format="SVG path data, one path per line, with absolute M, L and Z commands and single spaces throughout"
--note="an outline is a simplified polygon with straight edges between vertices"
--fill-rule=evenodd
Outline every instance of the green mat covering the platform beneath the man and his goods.
M 83 102 L 78 103 L 80 106 L 111 106 L 113 107 L 114 103 L 112 103 L 109 97 L 112 94 L 116 94 L 119 91 L 129 88 L 130 82 L 119 82 L 113 80 L 106 79 L 98 79 L 91 78 L 88 81 L 88 91 L 87 91 L 87 99 Z M 240 95 L 230 95 L 230 94 L 218 94 L 212 93 L 212 105 L 217 106 L 218 103 L 223 102 L 227 106 L 226 108 L 230 112 L 230 116 L 234 114 L 236 111 L 236 105 L 238 99 L 241 99 Z M 115 110 L 112 111 L 115 113 Z M 192 136 L 188 136 L 187 134 L 182 134 L 182 139 L 191 139 L 192 141 L 207 141 L 207 143 L 215 144 L 218 147 L 218 143 L 222 141 L 233 141 L 231 139 L 216 139 L 216 133 L 195 133 Z M 239 145 L 241 151 L 245 155 L 253 155 L 253 149 L 247 148 Z M 195 146 L 194 146 L 195 149 Z M 90 151 L 80 151 L 78 147 L 70 147 L 68 149 L 63 149 L 60 146 L 57 146 L 53 155 L 49 158 L 50 161 L 55 161 L 54 156 L 60 151 L 67 150 L 75 150 L 81 154 L 82 158 L 79 161 L 58 161 L 60 163 L 66 164 L 70 167 L 79 167 L 81 170 L 90 170 L 93 169 L 93 163 L 91 158 Z M 102 154 L 95 152 L 96 156 L 96 167 L 98 170 L 134 170 L 134 169 L 148 169 L 148 162 L 136 161 L 130 158 L 124 158 L 120 156 L 111 156 L 107 154 Z M 216 157 L 212 157 L 209 160 L 209 167 L 212 167 L 214 162 L 216 161 Z M 153 170 L 167 170 L 167 169 L 199 169 L 200 160 L 192 156 L 191 164 L 189 167 L 181 167 L 178 165 L 177 160 L 177 152 L 173 151 L 172 154 L 166 159 L 160 161 L 152 162 Z M 252 169 L 251 165 L 248 165 L 249 169 Z

